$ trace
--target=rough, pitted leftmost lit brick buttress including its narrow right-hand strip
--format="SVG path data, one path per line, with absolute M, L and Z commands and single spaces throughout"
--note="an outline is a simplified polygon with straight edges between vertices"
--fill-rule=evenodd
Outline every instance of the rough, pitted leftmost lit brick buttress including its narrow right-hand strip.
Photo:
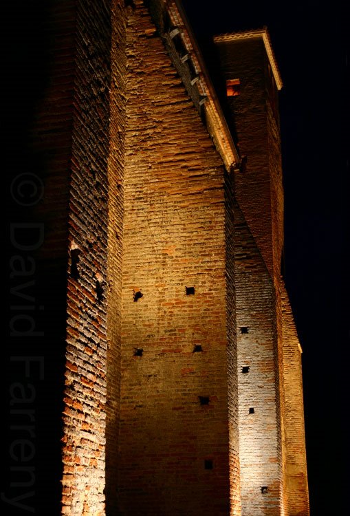
M 118 376 L 114 373 L 118 372 L 121 279 L 116 231 L 122 225 L 118 183 L 123 164 L 118 129 L 124 120 L 120 77 L 125 61 L 118 43 L 122 28 L 120 2 L 112 6 L 108 1 L 78 2 L 63 436 L 63 513 L 72 515 L 105 513 L 106 440 L 111 451 L 109 478 L 116 467 Z M 113 364 L 108 368 L 107 354 Z M 113 393 L 109 405 L 107 387 Z M 107 496 L 113 485 L 115 491 L 115 482 L 107 482 Z

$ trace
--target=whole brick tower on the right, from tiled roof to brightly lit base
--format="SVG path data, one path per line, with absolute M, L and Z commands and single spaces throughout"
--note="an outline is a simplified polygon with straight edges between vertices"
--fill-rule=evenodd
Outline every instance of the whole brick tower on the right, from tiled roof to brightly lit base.
M 281 277 L 282 81 L 265 28 L 214 41 L 242 159 L 234 181 L 242 514 L 307 515 L 301 349 Z

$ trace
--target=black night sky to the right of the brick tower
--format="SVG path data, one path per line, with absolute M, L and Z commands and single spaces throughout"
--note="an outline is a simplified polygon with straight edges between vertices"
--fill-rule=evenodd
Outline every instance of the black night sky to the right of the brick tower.
M 264 25 L 270 32 L 284 84 L 285 281 L 303 347 L 311 516 L 344 515 L 344 11 L 311 0 L 182 3 L 199 43 Z

